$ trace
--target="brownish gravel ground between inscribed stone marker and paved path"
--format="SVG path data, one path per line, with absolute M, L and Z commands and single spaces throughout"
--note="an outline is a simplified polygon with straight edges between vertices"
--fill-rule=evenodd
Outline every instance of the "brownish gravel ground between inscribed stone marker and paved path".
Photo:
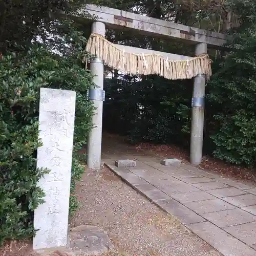
M 220 256 L 176 218 L 116 177 L 108 168 L 87 169 L 77 185 L 80 207 L 71 226 L 95 225 L 112 239 L 112 256 Z

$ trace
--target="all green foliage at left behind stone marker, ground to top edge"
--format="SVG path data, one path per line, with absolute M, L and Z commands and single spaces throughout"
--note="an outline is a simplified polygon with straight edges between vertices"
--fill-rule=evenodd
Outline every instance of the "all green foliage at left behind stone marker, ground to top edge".
M 0 3 L 0 244 L 34 234 L 33 211 L 43 202 L 36 168 L 40 87 L 76 91 L 70 211 L 77 203 L 75 182 L 83 172 L 77 151 L 92 128 L 86 100 L 91 75 L 81 62 L 86 36 L 71 13 L 82 1 Z

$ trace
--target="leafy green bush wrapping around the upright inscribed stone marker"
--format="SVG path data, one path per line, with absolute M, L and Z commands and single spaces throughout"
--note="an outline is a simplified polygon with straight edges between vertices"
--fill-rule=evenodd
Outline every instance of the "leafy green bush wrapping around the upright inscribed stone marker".
M 49 170 L 36 168 L 36 150 L 41 145 L 38 142 L 40 87 L 76 91 L 72 191 L 83 171 L 76 153 L 86 143 L 92 127 L 93 106 L 86 100 L 91 77 L 72 57 L 64 58 L 39 47 L 27 53 L 9 53 L 1 61 L 0 244 L 6 239 L 32 236 L 33 211 L 43 202 L 44 191 L 36 184 Z M 73 210 L 74 197 L 70 205 Z

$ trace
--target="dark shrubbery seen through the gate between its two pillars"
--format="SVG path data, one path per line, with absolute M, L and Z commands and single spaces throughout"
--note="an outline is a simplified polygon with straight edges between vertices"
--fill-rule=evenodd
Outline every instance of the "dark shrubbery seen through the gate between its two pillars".
M 131 142 L 188 145 L 192 80 L 170 81 L 155 75 L 105 81 L 103 124 Z

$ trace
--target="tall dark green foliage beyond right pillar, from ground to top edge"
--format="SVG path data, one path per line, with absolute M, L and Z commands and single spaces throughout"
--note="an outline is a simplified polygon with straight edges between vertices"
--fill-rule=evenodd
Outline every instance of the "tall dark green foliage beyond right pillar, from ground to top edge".
M 256 164 L 256 16 L 255 1 L 235 0 L 241 26 L 208 84 L 215 109 L 214 155 L 231 163 Z

